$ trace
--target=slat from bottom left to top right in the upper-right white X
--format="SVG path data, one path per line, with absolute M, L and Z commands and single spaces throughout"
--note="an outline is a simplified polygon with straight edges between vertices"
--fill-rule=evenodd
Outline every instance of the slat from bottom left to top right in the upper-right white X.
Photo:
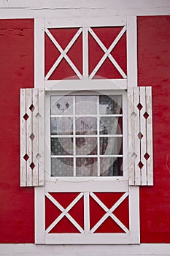
M 126 26 L 123 27 L 123 29 L 120 31 L 120 33 L 117 35 L 117 37 L 115 38 L 115 40 L 112 42 L 112 44 L 110 45 L 110 47 L 107 49 L 107 51 L 104 53 L 104 56 L 101 58 L 100 61 L 98 61 L 98 64 L 96 65 L 96 67 L 93 69 L 93 71 L 91 72 L 89 78 L 92 79 L 93 76 L 96 74 L 96 72 L 98 71 L 98 69 L 101 67 L 101 65 L 104 63 L 105 59 L 107 59 L 107 57 L 109 56 L 109 53 L 111 53 L 112 49 L 115 48 L 115 45 L 117 45 L 117 42 L 120 40 L 120 38 L 123 36 L 123 34 L 126 31 Z

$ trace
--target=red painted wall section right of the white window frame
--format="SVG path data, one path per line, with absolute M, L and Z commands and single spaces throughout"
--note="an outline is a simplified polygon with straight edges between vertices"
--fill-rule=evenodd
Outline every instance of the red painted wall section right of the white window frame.
M 139 86 L 152 86 L 154 186 L 140 189 L 141 242 L 170 243 L 170 16 L 138 18 Z

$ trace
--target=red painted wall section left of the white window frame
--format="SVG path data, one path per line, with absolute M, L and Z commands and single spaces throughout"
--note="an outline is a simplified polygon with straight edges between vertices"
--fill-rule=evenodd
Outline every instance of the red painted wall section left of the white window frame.
M 20 188 L 20 88 L 34 86 L 34 20 L 0 20 L 0 242 L 34 242 L 34 189 Z

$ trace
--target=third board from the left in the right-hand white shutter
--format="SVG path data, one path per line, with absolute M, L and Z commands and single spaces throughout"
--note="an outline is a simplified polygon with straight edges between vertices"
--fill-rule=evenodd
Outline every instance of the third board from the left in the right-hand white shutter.
M 146 97 L 145 97 L 145 87 L 139 87 L 140 91 L 140 104 L 142 109 L 140 110 L 140 132 L 142 134 L 141 138 L 141 162 L 143 167 L 141 169 L 141 184 L 147 185 L 147 160 L 144 158 L 144 154 L 147 153 L 147 130 L 146 130 L 146 119 L 144 118 L 144 113 L 146 112 Z

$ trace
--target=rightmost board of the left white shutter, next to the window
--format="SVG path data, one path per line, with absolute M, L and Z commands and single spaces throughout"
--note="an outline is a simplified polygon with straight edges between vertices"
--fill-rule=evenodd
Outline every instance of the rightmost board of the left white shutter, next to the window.
M 39 89 L 39 114 L 38 114 L 38 136 L 39 136 L 39 186 L 45 184 L 45 168 L 44 168 L 44 130 L 45 130 L 45 90 Z

